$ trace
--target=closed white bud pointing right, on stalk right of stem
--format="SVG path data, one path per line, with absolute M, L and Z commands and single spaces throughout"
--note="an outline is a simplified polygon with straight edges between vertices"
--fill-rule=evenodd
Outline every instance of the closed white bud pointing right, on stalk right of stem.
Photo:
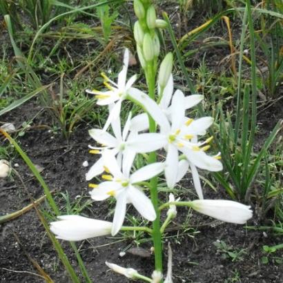
M 197 199 L 192 202 L 192 208 L 204 215 L 236 224 L 244 224 L 253 216 L 251 206 L 224 199 Z

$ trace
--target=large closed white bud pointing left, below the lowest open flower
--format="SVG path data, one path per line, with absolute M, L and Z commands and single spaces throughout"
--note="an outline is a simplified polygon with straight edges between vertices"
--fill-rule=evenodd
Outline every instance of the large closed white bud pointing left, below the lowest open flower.
M 58 219 L 59 221 L 50 223 L 50 230 L 61 240 L 81 241 L 90 237 L 109 235 L 112 228 L 111 222 L 79 215 L 63 215 Z

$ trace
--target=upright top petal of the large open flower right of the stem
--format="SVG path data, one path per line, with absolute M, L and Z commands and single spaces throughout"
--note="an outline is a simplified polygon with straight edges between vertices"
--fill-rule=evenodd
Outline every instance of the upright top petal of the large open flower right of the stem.
M 175 132 L 181 129 L 184 123 L 185 117 L 185 107 L 184 107 L 184 93 L 181 90 L 176 90 L 171 105 L 171 120 L 172 120 L 172 130 Z

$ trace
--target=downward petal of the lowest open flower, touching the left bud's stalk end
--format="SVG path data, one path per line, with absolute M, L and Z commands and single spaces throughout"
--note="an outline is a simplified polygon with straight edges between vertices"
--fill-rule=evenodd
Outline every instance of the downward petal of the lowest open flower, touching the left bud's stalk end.
M 115 213 L 113 218 L 113 226 L 111 235 L 115 236 L 119 230 L 121 229 L 121 226 L 123 225 L 124 218 L 126 215 L 126 193 L 122 192 L 116 197 L 117 204 L 115 207 Z

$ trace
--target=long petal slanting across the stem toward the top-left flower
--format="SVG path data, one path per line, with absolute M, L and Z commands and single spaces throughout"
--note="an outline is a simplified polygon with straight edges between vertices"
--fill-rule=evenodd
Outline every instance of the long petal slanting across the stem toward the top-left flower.
M 168 132 L 170 130 L 170 125 L 166 116 L 153 99 L 137 88 L 130 88 L 128 94 L 142 105 L 146 112 L 153 117 L 156 123 L 159 124 L 164 131 Z

